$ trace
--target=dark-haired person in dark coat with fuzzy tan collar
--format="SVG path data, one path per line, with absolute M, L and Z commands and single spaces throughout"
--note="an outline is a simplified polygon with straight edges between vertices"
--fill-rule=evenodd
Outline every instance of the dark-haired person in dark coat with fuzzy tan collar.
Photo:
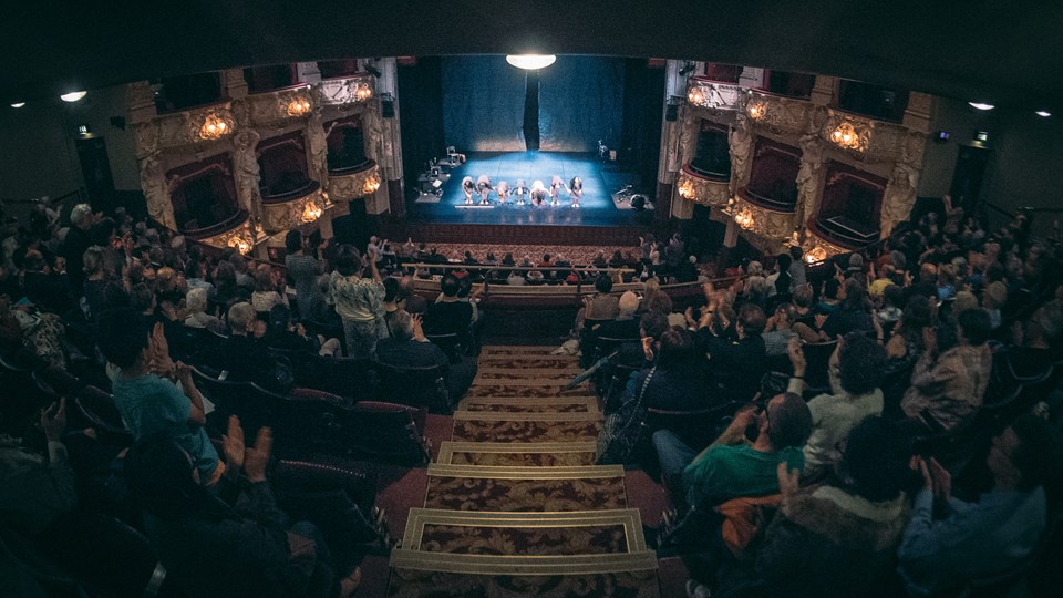
M 778 466 L 783 499 L 749 564 L 724 575 L 721 594 L 849 597 L 881 595 L 908 523 L 906 437 L 881 417 L 857 424 L 828 484 L 798 488 Z M 740 591 L 737 588 L 742 587 Z

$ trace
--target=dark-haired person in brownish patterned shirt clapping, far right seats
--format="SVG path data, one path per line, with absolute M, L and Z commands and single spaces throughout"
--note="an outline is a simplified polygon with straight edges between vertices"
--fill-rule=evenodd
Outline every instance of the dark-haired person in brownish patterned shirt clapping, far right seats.
M 940 346 L 948 331 L 923 329 L 926 352 L 916 363 L 911 388 L 900 403 L 905 414 L 930 430 L 949 430 L 982 405 L 989 384 L 992 353 L 989 315 L 981 309 L 960 313 L 957 347 Z

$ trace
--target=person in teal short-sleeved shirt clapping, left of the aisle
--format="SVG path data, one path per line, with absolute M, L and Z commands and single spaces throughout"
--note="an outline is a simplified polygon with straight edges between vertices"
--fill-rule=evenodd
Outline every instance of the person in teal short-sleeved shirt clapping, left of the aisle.
M 203 427 L 207 421 L 203 395 L 192 369 L 171 360 L 162 324 L 151 330 L 132 309 L 114 309 L 101 316 L 96 342 L 114 365 L 114 403 L 134 440 L 173 437 L 192 456 L 203 484 L 214 485 L 225 467 Z

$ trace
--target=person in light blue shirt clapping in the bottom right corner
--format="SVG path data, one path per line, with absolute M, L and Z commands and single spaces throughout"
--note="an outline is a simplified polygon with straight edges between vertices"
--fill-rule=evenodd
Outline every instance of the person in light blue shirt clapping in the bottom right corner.
M 1061 463 L 1060 431 L 1033 415 L 993 439 L 987 457 L 993 487 L 976 502 L 953 497 L 949 472 L 920 460 L 922 489 L 897 551 L 909 594 L 956 591 L 1022 563 L 1044 532 L 1044 485 L 1057 478 Z

